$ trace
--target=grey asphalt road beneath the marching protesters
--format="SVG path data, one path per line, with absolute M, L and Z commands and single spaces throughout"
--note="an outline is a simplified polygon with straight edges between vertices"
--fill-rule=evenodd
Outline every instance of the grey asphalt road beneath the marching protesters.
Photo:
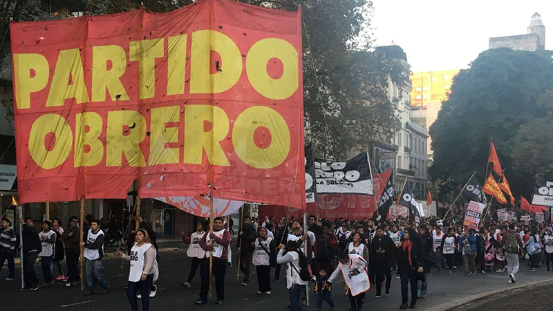
M 184 247 L 182 243 L 170 242 L 160 244 L 160 247 Z M 64 283 L 41 286 L 36 292 L 20 292 L 21 270 L 16 272 L 15 281 L 5 281 L 8 275 L 4 265 L 0 279 L 0 303 L 2 310 L 130 310 L 126 300 L 126 276 L 128 265 L 121 265 L 120 259 L 111 258 L 104 261 L 104 274 L 111 290 L 106 295 L 83 296 L 79 286 L 73 288 L 64 287 Z M 184 253 L 184 249 L 176 252 L 160 254 L 160 279 L 157 282 L 158 294 L 151 300 L 151 310 L 288 310 L 288 291 L 284 279 L 284 270 L 281 272 L 281 281 L 272 283 L 271 295 L 259 295 L 257 291 L 256 276 L 252 276 L 248 286 L 241 286 L 236 281 L 236 251 L 234 252 L 234 265 L 227 270 L 225 303 L 215 305 L 215 298 L 209 299 L 207 305 L 194 305 L 199 286 L 200 276 L 192 282 L 191 289 L 185 289 L 180 283 L 186 278 L 190 261 Z M 40 265 L 35 266 L 37 276 L 42 279 Z M 272 272 L 273 275 L 273 272 Z M 545 267 L 536 272 L 529 272 L 522 264 L 521 271 L 517 274 L 517 284 L 532 281 L 545 281 L 553 279 L 552 274 L 545 273 Z M 418 309 L 430 308 L 441 303 L 460 299 L 489 290 L 509 288 L 507 273 L 476 274 L 465 276 L 461 270 L 454 270 L 453 275 L 448 275 L 442 270 L 437 273 L 433 270 L 429 276 L 428 296 L 418 301 Z M 348 297 L 344 296 L 344 290 L 339 283 L 332 288 L 332 298 L 337 304 L 337 311 L 348 310 Z M 371 288 L 366 296 L 365 310 L 396 310 L 401 303 L 400 279 L 393 276 L 390 296 L 374 297 L 375 288 Z M 214 295 L 215 296 L 215 295 Z M 310 307 L 304 310 L 315 310 L 315 296 L 310 293 Z M 139 303 L 140 305 L 140 303 Z M 546 308 L 547 309 L 547 308 Z M 324 305 L 328 310 L 328 305 Z M 476 309 L 475 309 L 476 310 Z M 489 309 L 478 309 L 488 310 Z M 499 309 L 498 309 L 499 310 Z M 544 309 L 545 310 L 545 309 Z

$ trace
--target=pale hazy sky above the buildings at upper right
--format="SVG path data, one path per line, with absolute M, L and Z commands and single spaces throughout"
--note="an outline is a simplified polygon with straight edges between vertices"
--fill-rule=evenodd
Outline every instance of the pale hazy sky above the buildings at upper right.
M 378 46 L 401 46 L 411 70 L 467 68 L 489 37 L 523 35 L 534 12 L 553 50 L 552 0 L 373 0 Z

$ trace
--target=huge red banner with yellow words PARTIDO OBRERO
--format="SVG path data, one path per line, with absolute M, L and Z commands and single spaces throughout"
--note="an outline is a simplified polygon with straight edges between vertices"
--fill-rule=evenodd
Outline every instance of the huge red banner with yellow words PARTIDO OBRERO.
M 11 24 L 21 202 L 198 196 L 302 208 L 301 12 Z

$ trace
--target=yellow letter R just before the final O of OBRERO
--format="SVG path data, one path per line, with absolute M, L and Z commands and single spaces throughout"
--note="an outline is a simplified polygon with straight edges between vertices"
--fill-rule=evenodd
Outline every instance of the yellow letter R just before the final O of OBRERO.
M 211 129 L 205 131 L 205 122 Z M 187 105 L 185 110 L 185 160 L 202 164 L 203 152 L 210 164 L 229 167 L 221 144 L 229 132 L 229 117 L 223 109 L 211 105 Z

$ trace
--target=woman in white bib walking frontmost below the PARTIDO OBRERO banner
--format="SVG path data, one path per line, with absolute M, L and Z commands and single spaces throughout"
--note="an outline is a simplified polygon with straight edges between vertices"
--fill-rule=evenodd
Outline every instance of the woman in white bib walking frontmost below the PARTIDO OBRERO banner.
M 136 292 L 140 291 L 142 310 L 148 311 L 150 308 L 150 288 L 159 276 L 156 247 L 153 247 L 151 244 L 148 232 L 145 229 L 138 229 L 136 231 L 135 242 L 131 248 L 130 256 L 126 256 L 121 251 L 118 251 L 117 254 L 124 261 L 131 263 L 129 283 L 126 290 L 126 296 L 129 299 L 129 303 L 131 303 L 131 309 L 138 311 Z

